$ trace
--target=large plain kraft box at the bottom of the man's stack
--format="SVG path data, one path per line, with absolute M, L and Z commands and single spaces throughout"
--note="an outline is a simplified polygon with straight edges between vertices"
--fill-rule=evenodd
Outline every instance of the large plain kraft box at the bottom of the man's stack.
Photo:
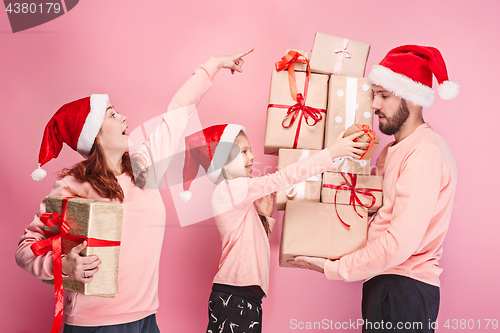
M 287 260 L 296 256 L 338 259 L 366 246 L 367 210 L 337 205 L 289 201 L 286 205 L 281 231 L 279 262 L 281 267 L 293 267 Z

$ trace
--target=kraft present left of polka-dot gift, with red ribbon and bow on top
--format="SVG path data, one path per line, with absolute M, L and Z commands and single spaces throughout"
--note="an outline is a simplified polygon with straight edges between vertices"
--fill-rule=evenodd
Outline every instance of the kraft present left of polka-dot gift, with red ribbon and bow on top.
M 276 155 L 279 148 L 323 148 L 329 77 L 284 71 L 294 58 L 278 62 L 280 70 L 274 70 L 271 77 L 265 154 Z

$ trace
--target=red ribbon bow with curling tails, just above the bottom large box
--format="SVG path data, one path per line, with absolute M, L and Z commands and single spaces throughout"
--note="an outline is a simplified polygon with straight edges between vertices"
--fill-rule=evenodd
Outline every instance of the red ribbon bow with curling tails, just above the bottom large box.
M 341 191 L 350 191 L 351 192 L 351 196 L 349 199 L 349 205 L 352 205 L 354 207 L 354 211 L 356 212 L 356 214 L 358 214 L 359 217 L 363 217 L 356 210 L 356 204 L 360 205 L 361 207 L 365 207 L 366 209 L 373 207 L 373 205 L 375 205 L 377 199 L 375 198 L 375 196 L 371 192 L 382 192 L 382 190 L 377 189 L 377 188 L 363 188 L 363 189 L 356 188 L 357 182 L 358 182 L 358 175 L 352 174 L 352 173 L 346 174 L 344 172 L 341 172 L 340 174 L 344 178 L 344 181 L 345 181 L 344 184 L 341 184 L 341 185 L 323 184 L 323 187 L 336 190 L 334 201 L 333 201 L 333 203 L 335 205 L 335 212 L 337 213 L 337 217 L 339 218 L 339 220 L 346 227 L 350 228 L 351 226 L 349 224 L 345 223 L 344 220 L 342 220 L 342 218 L 340 217 L 339 212 L 337 210 L 337 193 L 338 193 L 338 191 L 341 190 Z M 346 175 L 349 176 L 348 177 L 349 179 L 347 179 Z M 358 195 L 364 195 L 364 196 L 370 197 L 372 199 L 371 204 L 369 206 L 366 206 L 365 204 L 363 204 L 361 202 L 361 199 L 359 199 Z

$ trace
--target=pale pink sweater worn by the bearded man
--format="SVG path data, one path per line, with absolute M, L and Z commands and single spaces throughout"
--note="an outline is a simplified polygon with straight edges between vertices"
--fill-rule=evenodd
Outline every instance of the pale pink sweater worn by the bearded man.
M 367 246 L 325 262 L 328 279 L 357 281 L 398 274 L 439 286 L 438 265 L 448 231 L 457 169 L 445 140 L 420 125 L 377 160 L 383 206 L 371 219 Z

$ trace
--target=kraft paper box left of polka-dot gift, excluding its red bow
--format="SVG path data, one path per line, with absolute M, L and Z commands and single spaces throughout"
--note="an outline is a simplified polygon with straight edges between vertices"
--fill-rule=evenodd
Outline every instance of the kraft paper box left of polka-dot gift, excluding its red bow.
M 295 73 L 297 79 L 297 91 L 304 94 L 304 84 L 306 80 L 304 72 Z M 311 74 L 305 105 L 326 111 L 328 98 L 327 75 Z M 322 149 L 325 132 L 325 112 L 321 112 L 321 120 L 314 126 L 309 126 L 306 119 L 302 117 L 303 112 L 299 111 L 298 116 L 288 128 L 283 127 L 283 120 L 287 115 L 288 108 L 297 104 L 290 93 L 287 71 L 273 70 L 271 77 L 271 88 L 269 92 L 269 104 L 285 105 L 286 108 L 269 107 L 267 110 L 266 131 L 264 138 L 264 154 L 276 155 L 278 149 Z M 290 115 L 285 124 L 289 123 Z M 308 122 L 313 124 L 309 118 Z M 299 127 L 300 124 L 300 127 Z M 296 133 L 299 135 L 296 138 Z M 296 142 L 296 147 L 294 143 Z

